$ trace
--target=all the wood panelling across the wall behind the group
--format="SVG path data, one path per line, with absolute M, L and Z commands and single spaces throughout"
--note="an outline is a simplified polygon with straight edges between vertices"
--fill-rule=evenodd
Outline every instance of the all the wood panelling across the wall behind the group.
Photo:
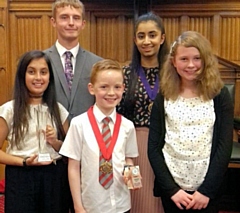
M 45 49 L 56 39 L 50 24 L 52 1 L 26 2 L 10 2 L 9 24 L 13 26 L 10 35 L 17 36 L 11 43 L 17 51 L 11 60 L 12 68 L 16 55 L 19 57 L 30 49 Z M 97 1 L 86 2 L 87 25 L 79 41 L 83 48 L 125 63 L 131 58 L 134 8 L 131 1 L 128 4 L 120 2 L 107 5 Z M 161 3 L 152 1 L 151 6 L 163 18 L 169 43 L 185 30 L 196 30 L 210 40 L 216 55 L 240 64 L 240 3 L 166 4 L 163 7 Z

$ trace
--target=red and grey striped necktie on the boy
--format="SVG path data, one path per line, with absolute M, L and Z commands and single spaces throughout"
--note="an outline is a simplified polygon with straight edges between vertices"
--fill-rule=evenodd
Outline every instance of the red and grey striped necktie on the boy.
M 102 122 L 103 122 L 102 137 L 106 145 L 106 148 L 108 148 L 109 144 L 111 143 L 111 131 L 109 128 L 110 118 L 106 117 L 103 119 Z M 104 159 L 100 151 L 99 166 L 101 167 L 101 165 L 103 165 L 104 163 L 106 164 L 106 159 Z M 109 165 L 112 167 L 112 159 L 109 159 L 107 163 L 109 163 Z M 102 172 L 101 169 L 99 169 L 99 182 L 105 189 L 108 189 L 110 185 L 113 183 L 112 170 L 111 172 L 106 173 Z

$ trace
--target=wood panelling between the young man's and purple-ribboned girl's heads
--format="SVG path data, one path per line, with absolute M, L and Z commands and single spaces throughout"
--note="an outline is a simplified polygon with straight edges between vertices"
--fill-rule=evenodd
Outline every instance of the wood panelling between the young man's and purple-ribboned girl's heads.
M 133 19 L 124 15 L 112 18 L 95 16 L 96 53 L 124 64 L 131 58 Z

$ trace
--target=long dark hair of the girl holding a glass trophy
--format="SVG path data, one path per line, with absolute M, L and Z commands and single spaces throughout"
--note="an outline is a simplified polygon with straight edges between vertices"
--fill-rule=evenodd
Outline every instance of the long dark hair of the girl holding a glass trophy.
M 55 123 L 58 132 L 58 139 L 63 140 L 65 137 L 65 132 L 62 126 L 59 107 L 56 99 L 56 91 L 54 84 L 53 70 L 51 66 L 50 59 L 48 56 L 39 50 L 33 50 L 26 52 L 20 58 L 17 67 L 17 73 L 15 77 L 14 85 L 14 107 L 13 107 L 13 144 L 20 148 L 20 144 L 24 139 L 26 132 L 28 131 L 29 123 L 28 118 L 30 116 L 29 108 L 29 91 L 26 86 L 25 76 L 28 65 L 34 59 L 43 58 L 49 69 L 50 79 L 47 89 L 44 91 L 42 102 L 48 106 L 48 110 L 52 119 Z

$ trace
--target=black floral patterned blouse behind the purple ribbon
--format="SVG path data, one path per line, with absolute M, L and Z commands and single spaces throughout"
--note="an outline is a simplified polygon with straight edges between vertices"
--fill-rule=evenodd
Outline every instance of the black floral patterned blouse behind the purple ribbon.
M 143 70 L 146 75 L 146 79 L 149 85 L 151 86 L 151 89 L 153 89 L 156 82 L 156 76 L 159 75 L 159 68 L 143 67 Z M 134 100 L 131 104 L 131 110 L 129 110 L 129 108 L 126 108 L 124 101 L 125 101 L 127 90 L 129 88 L 131 69 L 129 66 L 124 66 L 123 71 L 124 71 L 125 90 L 123 93 L 123 98 L 119 103 L 119 105 L 117 106 L 117 111 L 123 116 L 125 116 L 126 118 L 130 119 L 134 123 L 135 127 L 149 127 L 150 112 L 151 112 L 150 108 L 151 108 L 152 101 L 149 98 L 143 83 L 138 77 L 136 90 L 134 94 Z M 159 84 L 159 82 L 156 82 L 156 83 Z

